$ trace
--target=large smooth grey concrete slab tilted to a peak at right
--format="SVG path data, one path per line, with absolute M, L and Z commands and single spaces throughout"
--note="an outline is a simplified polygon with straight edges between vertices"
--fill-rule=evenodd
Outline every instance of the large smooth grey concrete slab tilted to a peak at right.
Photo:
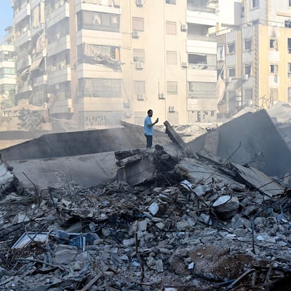
M 214 150 L 209 154 L 224 161 L 255 165 L 269 176 L 284 176 L 291 172 L 291 151 L 266 110 L 248 112 L 214 130 L 219 133 L 218 138 L 212 139 L 217 146 L 207 146 L 209 138 L 204 134 L 190 141 L 193 152 L 199 153 L 205 148 Z

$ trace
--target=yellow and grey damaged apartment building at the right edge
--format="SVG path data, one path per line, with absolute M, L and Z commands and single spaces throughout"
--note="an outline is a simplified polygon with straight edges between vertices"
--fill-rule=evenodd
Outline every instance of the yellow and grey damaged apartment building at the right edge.
M 219 117 L 291 102 L 291 1 L 242 0 L 236 13 L 240 22 L 217 37 Z

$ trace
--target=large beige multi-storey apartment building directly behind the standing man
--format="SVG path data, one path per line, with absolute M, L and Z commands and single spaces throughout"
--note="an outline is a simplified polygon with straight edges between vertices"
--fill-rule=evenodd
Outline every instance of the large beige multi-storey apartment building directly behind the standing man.
M 218 1 L 11 0 L 18 102 L 75 129 L 215 122 Z

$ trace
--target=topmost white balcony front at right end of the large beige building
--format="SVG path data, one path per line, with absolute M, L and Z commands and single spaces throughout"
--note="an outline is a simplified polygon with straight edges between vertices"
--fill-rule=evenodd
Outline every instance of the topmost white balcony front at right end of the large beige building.
M 219 21 L 213 8 L 203 8 L 199 6 L 191 6 L 192 9 L 186 11 L 186 22 L 200 25 L 207 25 L 209 27 L 216 26 Z M 195 7 L 195 8 L 194 8 Z

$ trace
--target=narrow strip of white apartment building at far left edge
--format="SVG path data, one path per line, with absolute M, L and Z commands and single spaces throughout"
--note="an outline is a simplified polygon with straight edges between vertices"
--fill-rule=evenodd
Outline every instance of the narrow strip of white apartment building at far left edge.
M 13 105 L 16 87 L 13 27 L 6 27 L 5 31 L 4 44 L 0 44 L 0 102 Z M 1 104 L 1 107 L 5 107 L 5 104 Z

